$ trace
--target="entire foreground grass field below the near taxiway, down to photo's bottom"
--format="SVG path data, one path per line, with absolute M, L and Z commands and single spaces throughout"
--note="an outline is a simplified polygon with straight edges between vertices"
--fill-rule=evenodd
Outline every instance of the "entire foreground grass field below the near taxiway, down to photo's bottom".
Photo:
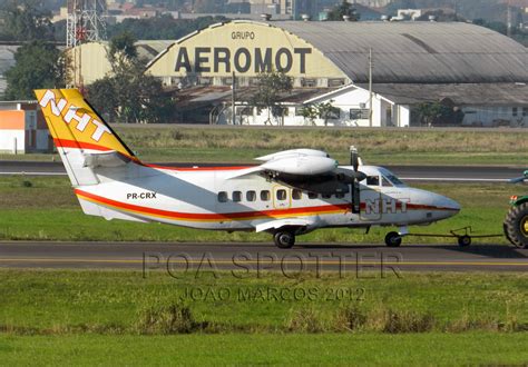
M 178 279 L 155 271 L 0 270 L 7 365 L 525 364 L 527 274 L 387 278 Z M 187 289 L 231 296 L 186 298 Z M 241 298 L 241 289 L 316 289 L 315 298 Z M 325 298 L 363 289 L 361 298 Z M 169 313 L 170 307 L 188 315 Z M 153 310 L 165 309 L 164 313 Z M 148 320 L 146 323 L 145 320 Z M 186 321 L 188 321 L 186 324 Z M 194 327 L 189 325 L 195 325 Z M 155 326 L 155 327 L 153 327 Z

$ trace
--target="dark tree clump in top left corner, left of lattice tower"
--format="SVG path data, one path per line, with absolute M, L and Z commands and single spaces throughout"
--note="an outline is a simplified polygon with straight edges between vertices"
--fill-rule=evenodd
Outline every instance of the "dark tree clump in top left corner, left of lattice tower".
M 2 38 L 16 41 L 53 40 L 51 12 L 37 0 L 8 0 L 0 7 Z

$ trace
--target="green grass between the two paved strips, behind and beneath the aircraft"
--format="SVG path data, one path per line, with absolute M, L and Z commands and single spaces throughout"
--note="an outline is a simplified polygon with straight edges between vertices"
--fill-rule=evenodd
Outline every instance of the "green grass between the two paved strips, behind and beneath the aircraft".
M 462 211 L 411 232 L 447 234 L 471 226 L 475 234 L 501 234 L 508 198 L 515 187 L 499 184 L 421 184 L 420 188 L 447 195 L 462 205 Z M 206 231 L 160 224 L 107 221 L 82 214 L 66 177 L 2 177 L 0 179 L 0 239 L 35 240 L 141 240 L 141 241 L 270 241 L 266 234 Z M 28 222 L 31 226 L 28 226 Z M 382 242 L 388 228 L 323 229 L 299 238 L 300 242 Z M 456 242 L 454 239 L 409 238 L 408 242 Z M 503 238 L 479 242 L 507 244 Z

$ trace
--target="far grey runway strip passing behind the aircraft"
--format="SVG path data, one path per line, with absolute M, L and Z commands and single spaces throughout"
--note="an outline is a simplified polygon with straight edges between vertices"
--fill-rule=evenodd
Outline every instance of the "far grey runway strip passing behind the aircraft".
M 169 167 L 192 167 L 190 163 L 163 162 Z M 201 163 L 201 166 L 233 166 L 229 163 Z M 522 175 L 519 167 L 503 166 L 385 166 L 405 181 L 438 182 L 506 182 Z M 0 175 L 62 176 L 62 162 L 0 161 Z

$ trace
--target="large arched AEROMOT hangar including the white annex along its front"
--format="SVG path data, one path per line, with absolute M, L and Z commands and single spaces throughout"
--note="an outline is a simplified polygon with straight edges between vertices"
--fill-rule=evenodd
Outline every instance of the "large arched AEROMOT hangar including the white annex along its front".
M 463 111 L 462 125 L 528 126 L 527 66 L 528 49 L 469 23 L 236 20 L 175 41 L 146 72 L 179 90 L 184 121 L 202 112 L 232 122 L 235 76 L 235 123 L 265 122 L 244 96 L 273 69 L 294 81 L 273 123 L 405 127 L 417 105 L 438 101 Z M 303 106 L 325 101 L 334 107 L 326 121 L 301 116 Z

